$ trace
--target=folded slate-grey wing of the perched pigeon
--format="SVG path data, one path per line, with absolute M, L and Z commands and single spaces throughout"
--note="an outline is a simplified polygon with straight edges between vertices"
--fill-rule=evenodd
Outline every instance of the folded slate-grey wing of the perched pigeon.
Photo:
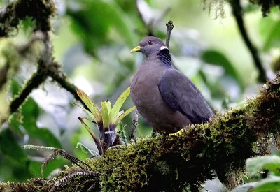
M 179 110 L 193 124 L 207 122 L 213 116 L 200 90 L 186 75 L 176 69 L 170 68 L 165 71 L 158 88 L 170 108 Z

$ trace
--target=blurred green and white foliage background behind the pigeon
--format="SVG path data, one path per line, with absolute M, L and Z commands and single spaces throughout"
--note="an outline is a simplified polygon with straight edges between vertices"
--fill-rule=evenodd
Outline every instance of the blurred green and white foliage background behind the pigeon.
M 1 7 L 9 1 L 1 1 Z M 137 2 L 137 3 L 136 3 Z M 246 29 L 260 56 L 267 75 L 274 77 L 280 66 L 280 15 L 273 8 L 265 18 L 258 6 L 241 1 Z M 218 111 L 240 105 L 258 93 L 256 70 L 242 40 L 229 5 L 225 18 L 216 18 L 215 9 L 203 10 L 202 1 L 57 0 L 57 15 L 52 18 L 52 45 L 55 60 L 76 86 L 96 103 L 111 103 L 130 86 L 135 71 L 144 59 L 130 54 L 139 41 L 153 33 L 165 40 L 165 23 L 174 22 L 169 50 L 174 66 L 188 75 Z M 167 11 L 165 11 L 167 10 Z M 141 15 L 141 16 L 140 16 Z M 13 43 L 30 38 L 32 22 L 25 20 L 13 36 Z M 36 64 L 22 61 L 13 77 L 8 96 L 15 95 L 35 71 Z M 41 177 L 40 166 L 48 152 L 23 151 L 22 145 L 44 145 L 65 149 L 85 160 L 90 154 L 76 149 L 82 142 L 96 149 L 78 117 L 85 113 L 71 103 L 74 98 L 48 80 L 13 114 L 0 133 L 0 180 L 23 182 Z M 125 102 L 124 109 L 132 106 Z M 131 127 L 132 115 L 123 121 Z M 140 117 L 137 137 L 151 135 L 151 127 Z M 57 158 L 44 169 L 50 177 L 64 165 Z

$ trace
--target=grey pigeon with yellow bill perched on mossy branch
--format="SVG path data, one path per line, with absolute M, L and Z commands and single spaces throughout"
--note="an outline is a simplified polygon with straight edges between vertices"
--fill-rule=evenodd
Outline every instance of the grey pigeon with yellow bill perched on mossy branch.
M 161 134 L 209 121 L 213 112 L 186 75 L 172 66 L 169 49 L 153 36 L 130 52 L 145 54 L 131 84 L 132 101 L 140 114 Z

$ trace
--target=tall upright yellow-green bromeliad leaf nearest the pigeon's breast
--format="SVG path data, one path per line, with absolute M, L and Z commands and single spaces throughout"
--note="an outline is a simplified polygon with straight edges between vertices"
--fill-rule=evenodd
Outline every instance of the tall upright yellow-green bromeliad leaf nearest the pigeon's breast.
M 128 96 L 130 96 L 130 87 L 128 87 L 125 91 L 123 91 L 123 94 L 119 96 L 116 103 L 113 105 L 113 108 L 110 112 L 110 119 L 113 124 L 116 123 L 119 114 L 118 112 L 120 111 L 120 108 L 123 106 L 123 103 L 125 103 L 125 100 L 127 99 Z

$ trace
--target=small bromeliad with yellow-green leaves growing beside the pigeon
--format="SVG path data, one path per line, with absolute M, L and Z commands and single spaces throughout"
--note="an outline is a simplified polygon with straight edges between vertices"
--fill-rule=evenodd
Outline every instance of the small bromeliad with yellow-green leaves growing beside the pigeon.
M 97 145 L 97 149 L 99 154 L 102 155 L 106 152 L 109 147 L 120 144 L 120 136 L 116 133 L 116 128 L 120 125 L 120 121 L 130 114 L 133 110 L 136 109 L 135 106 L 129 108 L 125 112 L 123 110 L 120 111 L 120 108 L 123 106 L 123 103 L 130 96 L 130 87 L 128 87 L 123 94 L 120 95 L 116 103 L 111 106 L 110 101 L 102 101 L 101 110 L 97 108 L 97 105 L 90 99 L 84 91 L 78 89 L 77 94 L 80 99 L 85 103 L 88 110 L 86 108 L 81 107 L 77 103 L 73 103 L 73 105 L 79 106 L 82 108 L 87 114 L 91 117 L 91 119 L 87 117 L 78 117 L 81 124 L 87 129 L 87 131 L 92 136 L 95 144 Z M 83 119 L 91 120 L 94 124 L 97 125 L 99 130 L 99 138 L 94 134 L 85 121 Z

